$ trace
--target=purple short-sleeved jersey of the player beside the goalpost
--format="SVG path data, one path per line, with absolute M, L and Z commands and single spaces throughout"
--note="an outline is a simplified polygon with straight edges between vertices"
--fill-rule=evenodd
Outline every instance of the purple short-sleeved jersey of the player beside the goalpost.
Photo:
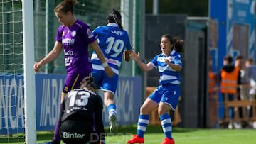
M 96 38 L 87 24 L 77 20 L 71 27 L 60 26 L 55 40 L 63 44 L 68 74 L 92 72 L 88 45 Z

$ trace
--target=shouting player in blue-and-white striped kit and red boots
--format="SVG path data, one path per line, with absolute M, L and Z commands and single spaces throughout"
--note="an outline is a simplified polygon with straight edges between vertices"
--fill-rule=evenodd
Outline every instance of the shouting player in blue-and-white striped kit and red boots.
M 144 143 L 144 133 L 149 124 L 149 113 L 158 106 L 159 118 L 164 131 L 164 141 L 161 144 L 174 144 L 171 136 L 171 117 L 170 110 L 175 110 L 178 104 L 178 97 L 181 94 L 181 76 L 182 62 L 180 52 L 183 52 L 183 40 L 173 38 L 166 34 L 161 37 L 161 53 L 156 55 L 151 62 L 144 64 L 138 55 L 132 51 L 131 57 L 137 62 L 137 65 L 144 70 L 149 71 L 154 68 L 159 70 L 159 86 L 144 101 L 140 108 L 139 120 L 137 125 L 137 135 L 127 143 Z

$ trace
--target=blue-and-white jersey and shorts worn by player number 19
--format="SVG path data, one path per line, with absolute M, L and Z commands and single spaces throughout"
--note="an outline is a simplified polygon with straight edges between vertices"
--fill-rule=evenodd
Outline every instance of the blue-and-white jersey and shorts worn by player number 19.
M 117 23 L 108 23 L 107 26 L 98 26 L 92 31 L 92 34 L 97 37 L 99 46 L 104 53 L 108 65 L 112 67 L 115 75 L 114 77 L 105 77 L 104 76 L 104 67 L 97 57 L 96 53 L 92 53 L 92 76 L 95 78 L 95 84 L 101 83 L 100 87 L 102 90 L 108 90 L 110 92 L 115 93 L 117 88 L 117 81 L 119 75 L 119 67 L 122 62 L 122 56 L 124 50 L 132 50 L 132 46 L 130 45 L 129 35 L 127 31 L 119 28 Z M 105 78 L 102 78 L 105 77 Z M 102 79 L 105 82 L 98 82 L 98 80 Z M 110 80 L 112 79 L 112 80 Z M 107 81 L 112 81 L 112 84 Z

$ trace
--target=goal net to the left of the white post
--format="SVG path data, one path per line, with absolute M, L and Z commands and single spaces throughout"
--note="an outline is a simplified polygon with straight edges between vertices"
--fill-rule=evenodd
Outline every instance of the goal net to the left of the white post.
M 25 126 L 23 27 L 21 1 L 1 0 L 0 7 L 0 138 L 6 143 L 23 137 L 17 133 Z

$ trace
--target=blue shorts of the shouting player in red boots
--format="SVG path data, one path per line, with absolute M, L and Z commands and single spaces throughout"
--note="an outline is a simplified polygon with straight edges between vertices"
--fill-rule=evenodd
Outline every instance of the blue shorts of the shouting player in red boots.
M 181 95 L 181 88 L 178 84 L 163 84 L 154 90 L 152 94 L 149 95 L 149 99 L 152 99 L 157 104 L 164 102 L 171 106 L 172 110 L 176 109 L 178 105 L 178 98 Z

